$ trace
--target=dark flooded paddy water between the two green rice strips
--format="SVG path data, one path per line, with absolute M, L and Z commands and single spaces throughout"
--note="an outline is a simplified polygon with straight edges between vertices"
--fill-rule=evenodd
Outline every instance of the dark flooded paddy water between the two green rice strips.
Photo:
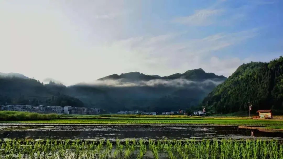
M 0 139 L 280 139 L 282 132 L 261 132 L 237 126 L 33 126 L 0 125 Z

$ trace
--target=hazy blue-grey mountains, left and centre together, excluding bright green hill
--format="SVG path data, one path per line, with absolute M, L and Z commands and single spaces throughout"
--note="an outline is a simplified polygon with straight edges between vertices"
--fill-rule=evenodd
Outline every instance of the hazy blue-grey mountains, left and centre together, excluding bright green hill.
M 2 77 L 0 103 L 98 107 L 119 110 L 173 111 L 198 105 L 226 78 L 202 69 L 160 77 L 130 72 L 91 84 L 64 86 L 34 79 Z

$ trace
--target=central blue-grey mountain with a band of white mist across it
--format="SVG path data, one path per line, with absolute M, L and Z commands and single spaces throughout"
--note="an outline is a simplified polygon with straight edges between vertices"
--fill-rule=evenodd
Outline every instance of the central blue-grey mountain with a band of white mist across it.
M 93 84 L 70 86 L 66 93 L 86 105 L 114 112 L 134 109 L 173 111 L 198 105 L 224 80 L 226 77 L 202 69 L 164 77 L 130 72 L 100 78 Z

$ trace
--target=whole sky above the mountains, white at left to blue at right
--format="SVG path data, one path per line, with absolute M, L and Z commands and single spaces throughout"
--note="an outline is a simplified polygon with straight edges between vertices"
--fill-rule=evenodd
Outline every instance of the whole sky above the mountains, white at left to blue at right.
M 0 72 L 65 85 L 110 74 L 229 77 L 283 55 L 281 0 L 0 1 Z

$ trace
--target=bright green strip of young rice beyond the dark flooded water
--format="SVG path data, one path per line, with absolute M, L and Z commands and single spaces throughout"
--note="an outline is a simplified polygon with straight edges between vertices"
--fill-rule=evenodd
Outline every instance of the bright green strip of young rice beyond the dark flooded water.
M 47 124 L 215 124 L 234 126 L 283 126 L 283 120 L 254 119 L 55 119 L 36 121 L 4 121 L 2 123 L 47 123 Z

